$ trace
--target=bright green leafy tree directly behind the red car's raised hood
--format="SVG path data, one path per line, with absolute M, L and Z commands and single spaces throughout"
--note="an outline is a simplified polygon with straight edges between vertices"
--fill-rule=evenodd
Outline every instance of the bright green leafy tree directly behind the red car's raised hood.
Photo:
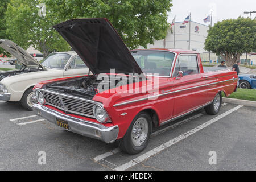
M 172 0 L 46 0 L 58 19 L 107 18 L 130 49 L 147 47 L 167 34 Z

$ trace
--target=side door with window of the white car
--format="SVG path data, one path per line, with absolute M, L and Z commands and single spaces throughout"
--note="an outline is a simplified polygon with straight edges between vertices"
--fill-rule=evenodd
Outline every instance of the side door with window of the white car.
M 74 56 L 71 61 L 69 61 L 66 69 L 63 72 L 64 77 L 71 77 L 71 76 L 82 76 L 88 75 L 88 67 L 81 60 L 79 56 Z

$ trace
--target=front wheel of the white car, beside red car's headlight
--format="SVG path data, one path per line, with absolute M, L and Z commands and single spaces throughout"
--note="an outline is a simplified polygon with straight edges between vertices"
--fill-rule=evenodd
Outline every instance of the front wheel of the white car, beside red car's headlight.
M 23 94 L 22 99 L 20 100 L 20 104 L 26 110 L 32 110 L 32 105 L 36 104 L 37 102 L 38 100 L 36 99 L 32 88 L 27 89 L 26 92 Z

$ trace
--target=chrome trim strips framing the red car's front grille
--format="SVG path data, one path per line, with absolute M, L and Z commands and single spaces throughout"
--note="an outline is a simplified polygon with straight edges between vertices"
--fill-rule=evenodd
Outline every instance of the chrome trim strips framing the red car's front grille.
M 39 89 L 39 88 L 36 88 L 34 89 L 34 92 L 36 91 L 43 91 L 43 92 L 48 92 L 48 93 L 51 93 L 51 94 L 55 94 L 57 96 L 59 96 L 59 100 L 60 100 L 60 97 L 68 97 L 68 98 L 73 98 L 73 99 L 77 99 L 77 100 L 81 100 L 81 101 L 85 101 L 85 102 L 90 102 L 91 104 L 98 104 L 98 105 L 102 105 L 100 102 L 96 102 L 96 101 L 92 101 L 92 100 L 88 100 L 88 99 L 85 99 L 85 98 L 81 98 L 81 97 L 76 97 L 76 96 L 71 96 L 71 95 L 68 95 L 68 94 L 63 94 L 63 93 L 59 93 L 59 92 L 53 92 L 51 90 L 46 90 L 46 89 Z M 62 99 L 61 99 L 62 100 Z M 61 101 L 60 100 L 60 101 Z M 64 110 L 64 111 L 67 111 L 68 113 L 73 113 L 73 114 L 78 114 L 78 115 L 83 115 L 85 117 L 90 117 L 90 118 L 95 118 L 94 115 L 90 115 L 90 114 L 84 114 L 84 113 L 80 113 L 80 112 L 76 112 L 76 111 L 72 111 L 72 110 L 68 110 L 65 106 L 63 106 L 63 104 L 61 104 L 63 107 L 60 107 L 60 106 L 57 106 L 55 104 L 51 104 L 51 103 L 48 103 L 46 102 L 46 104 L 48 105 L 51 105 L 53 107 L 56 107 L 57 109 L 60 109 L 60 110 Z M 103 107 L 103 106 L 102 106 Z M 103 107 L 104 108 L 104 107 Z M 93 108 L 92 108 L 93 109 Z M 105 109 L 104 109 L 105 110 Z M 106 112 L 106 111 L 105 111 Z

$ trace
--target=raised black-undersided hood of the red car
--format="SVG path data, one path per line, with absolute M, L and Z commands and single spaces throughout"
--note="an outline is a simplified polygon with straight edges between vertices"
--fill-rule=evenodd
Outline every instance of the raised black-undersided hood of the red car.
M 71 19 L 53 28 L 94 74 L 110 73 L 110 69 L 115 69 L 115 73 L 142 73 L 108 19 Z

